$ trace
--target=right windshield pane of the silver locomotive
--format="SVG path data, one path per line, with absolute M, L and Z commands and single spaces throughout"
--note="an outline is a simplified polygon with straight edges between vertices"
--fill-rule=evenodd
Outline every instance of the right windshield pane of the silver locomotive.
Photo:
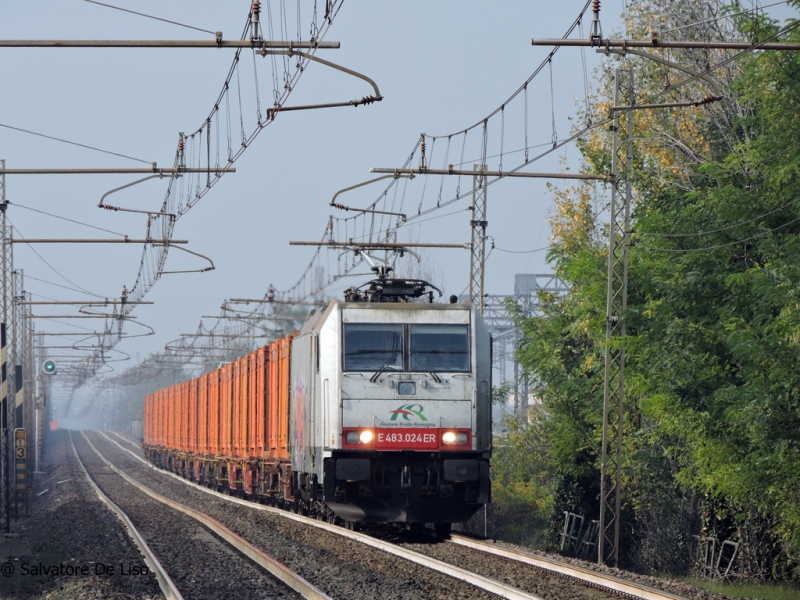
M 468 325 L 411 325 L 411 370 L 469 371 Z

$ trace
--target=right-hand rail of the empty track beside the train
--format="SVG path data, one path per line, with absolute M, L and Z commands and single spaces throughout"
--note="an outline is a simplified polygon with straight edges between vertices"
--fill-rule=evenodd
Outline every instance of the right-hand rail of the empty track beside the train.
M 311 585 L 308 581 L 300 577 L 300 575 L 289 569 L 287 566 L 279 563 L 277 560 L 275 560 L 268 554 L 265 554 L 264 552 L 253 546 L 250 542 L 245 540 L 243 537 L 235 534 L 233 531 L 225 527 L 225 525 L 223 525 L 213 517 L 210 517 L 207 514 L 200 512 L 199 510 L 190 508 L 185 504 L 176 502 L 175 500 L 170 500 L 169 498 L 165 498 L 161 494 L 157 494 L 156 492 L 151 490 L 146 485 L 139 483 L 138 481 L 133 479 L 130 475 L 122 472 L 120 469 L 118 469 L 117 467 L 112 465 L 108 460 L 106 460 L 106 458 L 102 454 L 100 454 L 100 451 L 97 448 L 95 448 L 94 444 L 92 444 L 91 440 L 86 435 L 85 431 L 81 431 L 81 434 L 86 439 L 86 443 L 89 444 L 89 447 L 95 451 L 97 456 L 100 457 L 100 460 L 102 460 L 108 466 L 109 469 L 114 471 L 117 475 L 122 477 L 125 481 L 130 483 L 138 490 L 144 492 L 154 500 L 158 500 L 162 504 L 166 504 L 170 508 L 173 508 L 179 512 L 182 512 L 185 515 L 192 517 L 193 519 L 196 519 L 197 521 L 208 527 L 215 534 L 217 534 L 219 537 L 221 537 L 223 540 L 228 542 L 231 546 L 236 548 L 236 550 L 244 554 L 247 558 L 252 560 L 257 565 L 269 571 L 269 573 L 271 573 L 273 577 L 285 583 L 287 586 L 289 586 L 291 589 L 293 589 L 295 592 L 297 592 L 304 598 L 309 598 L 310 600 L 333 600 L 330 596 L 328 596 L 315 586 Z

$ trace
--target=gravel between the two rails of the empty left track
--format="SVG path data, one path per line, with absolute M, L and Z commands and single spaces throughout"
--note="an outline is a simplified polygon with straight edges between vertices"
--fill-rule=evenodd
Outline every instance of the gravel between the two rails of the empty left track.
M 100 460 L 82 435 L 73 434 L 73 440 L 92 479 L 133 521 L 186 598 L 299 597 L 193 518 L 126 482 Z

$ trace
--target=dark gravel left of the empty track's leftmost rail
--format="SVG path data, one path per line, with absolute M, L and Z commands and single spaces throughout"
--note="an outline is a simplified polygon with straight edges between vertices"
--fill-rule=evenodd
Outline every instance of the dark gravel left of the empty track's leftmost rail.
M 80 470 L 68 432 L 48 433 L 45 442 L 29 516 L 0 534 L 0 598 L 163 599 L 155 576 L 142 572 L 146 565 L 125 528 Z

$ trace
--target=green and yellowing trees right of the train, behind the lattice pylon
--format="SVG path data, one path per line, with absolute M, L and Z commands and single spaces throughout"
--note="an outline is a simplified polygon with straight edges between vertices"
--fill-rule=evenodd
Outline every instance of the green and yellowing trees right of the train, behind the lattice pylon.
M 655 4 L 632 3 L 641 17 L 634 29 Z M 709 4 L 682 0 L 675 9 L 692 7 L 703 15 Z M 740 39 L 778 28 L 752 16 L 736 26 Z M 798 29 L 784 39 L 800 41 Z M 670 60 L 702 65 L 709 56 Z M 653 65 L 634 67 L 639 102 L 656 93 L 662 102 L 688 99 L 678 87 L 664 92 L 665 70 Z M 685 572 L 691 536 L 717 534 L 746 546 L 747 576 L 796 577 L 800 55 L 744 54 L 725 69 L 722 103 L 635 116 L 635 137 L 646 143 L 634 146 L 627 337 L 614 342 L 627 356 L 625 558 L 630 567 Z M 610 76 L 601 73 L 598 106 Z M 703 82 L 692 85 L 682 91 L 704 93 Z M 587 136 L 581 150 L 588 168 L 608 169 L 607 138 Z M 537 436 L 553 494 L 551 542 L 563 510 L 598 512 L 607 245 L 586 223 L 586 195 L 556 197 L 550 259 L 572 287 L 543 298 L 545 314 L 524 323 L 519 351 L 547 414 Z

